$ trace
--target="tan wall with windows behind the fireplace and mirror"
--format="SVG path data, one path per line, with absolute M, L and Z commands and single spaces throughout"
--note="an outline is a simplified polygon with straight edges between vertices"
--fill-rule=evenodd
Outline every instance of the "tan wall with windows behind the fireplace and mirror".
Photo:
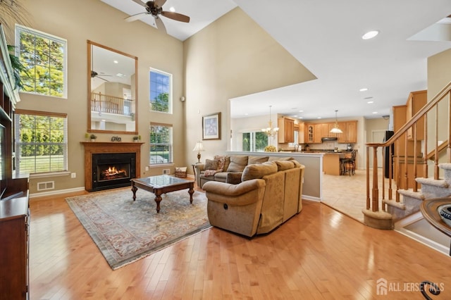
M 183 95 L 183 43 L 142 22 L 127 23 L 121 11 L 101 1 L 27 1 L 30 27 L 68 40 L 68 99 L 20 94 L 18 108 L 68 113 L 68 170 L 77 177 L 47 177 L 30 181 L 30 192 L 36 192 L 37 182 L 55 181 L 56 189 L 84 187 L 84 149 L 80 144 L 87 131 L 87 39 L 138 57 L 138 127 L 147 137 L 150 121 L 172 123 L 174 126 L 175 165 L 185 164 L 185 108 Z M 173 74 L 173 115 L 149 112 L 149 68 Z M 113 134 L 97 135 L 99 141 L 109 141 Z M 132 135 L 122 135 L 132 141 Z M 144 139 L 145 141 L 146 139 Z M 148 165 L 149 146 L 142 146 L 141 170 Z M 167 167 L 166 167 L 167 168 Z M 161 174 L 161 168 L 151 173 Z M 144 175 L 142 173 L 141 175 Z

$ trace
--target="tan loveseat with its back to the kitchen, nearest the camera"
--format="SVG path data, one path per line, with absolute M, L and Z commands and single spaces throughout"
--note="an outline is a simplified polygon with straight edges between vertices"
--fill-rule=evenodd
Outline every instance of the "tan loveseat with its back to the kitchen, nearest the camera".
M 204 182 L 210 224 L 247 237 L 271 232 L 302 210 L 304 168 L 267 161 L 246 165 L 236 185 Z

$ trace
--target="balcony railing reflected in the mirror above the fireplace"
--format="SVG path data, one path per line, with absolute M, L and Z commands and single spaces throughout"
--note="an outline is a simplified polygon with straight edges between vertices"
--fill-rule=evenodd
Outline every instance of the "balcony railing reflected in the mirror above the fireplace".
M 135 100 L 91 93 L 91 111 L 132 117 L 135 115 Z

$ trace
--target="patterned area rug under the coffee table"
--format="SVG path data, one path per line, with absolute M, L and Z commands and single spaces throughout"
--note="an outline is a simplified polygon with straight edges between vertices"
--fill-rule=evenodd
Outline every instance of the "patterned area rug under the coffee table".
M 70 208 L 99 247 L 113 270 L 149 256 L 211 225 L 206 196 L 186 190 L 161 196 L 156 213 L 154 194 L 115 189 L 66 198 Z

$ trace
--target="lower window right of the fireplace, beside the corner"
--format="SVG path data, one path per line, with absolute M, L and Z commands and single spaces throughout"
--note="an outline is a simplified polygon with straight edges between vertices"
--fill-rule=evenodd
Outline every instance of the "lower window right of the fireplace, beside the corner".
M 150 164 L 173 163 L 172 125 L 150 124 Z

